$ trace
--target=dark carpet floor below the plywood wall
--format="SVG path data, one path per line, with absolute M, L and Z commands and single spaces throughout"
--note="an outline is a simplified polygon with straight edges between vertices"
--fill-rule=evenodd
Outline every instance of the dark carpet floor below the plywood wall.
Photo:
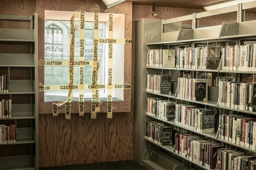
M 39 170 L 147 170 L 134 161 L 116 161 L 81 165 L 43 167 Z

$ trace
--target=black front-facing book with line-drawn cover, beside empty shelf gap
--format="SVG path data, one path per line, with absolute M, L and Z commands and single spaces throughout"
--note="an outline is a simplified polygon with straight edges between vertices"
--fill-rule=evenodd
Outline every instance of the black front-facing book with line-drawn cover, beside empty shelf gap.
M 207 100 L 207 81 L 205 79 L 197 79 L 195 83 L 195 98 L 198 100 Z

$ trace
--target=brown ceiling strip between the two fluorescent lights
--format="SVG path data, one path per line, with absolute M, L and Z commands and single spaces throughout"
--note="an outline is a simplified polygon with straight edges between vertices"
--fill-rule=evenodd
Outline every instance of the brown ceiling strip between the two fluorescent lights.
M 137 5 L 153 5 L 178 8 L 204 9 L 203 6 L 226 0 L 126 0 Z

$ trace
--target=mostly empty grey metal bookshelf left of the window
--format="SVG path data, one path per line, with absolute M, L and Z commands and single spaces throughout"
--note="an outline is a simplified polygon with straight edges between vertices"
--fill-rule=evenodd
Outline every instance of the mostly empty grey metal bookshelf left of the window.
M 0 15 L 0 20 L 30 21 L 30 29 L 0 29 L 0 42 L 30 43 L 30 54 L 0 54 L 0 67 L 29 67 L 30 80 L 9 80 L 9 92 L 0 95 L 30 94 L 30 103 L 12 104 L 12 118 L 5 120 L 28 119 L 30 127 L 16 127 L 16 143 L 0 145 L 30 144 L 29 155 L 0 157 L 0 170 L 38 170 L 38 15 Z M 9 69 L 8 69 L 9 70 Z

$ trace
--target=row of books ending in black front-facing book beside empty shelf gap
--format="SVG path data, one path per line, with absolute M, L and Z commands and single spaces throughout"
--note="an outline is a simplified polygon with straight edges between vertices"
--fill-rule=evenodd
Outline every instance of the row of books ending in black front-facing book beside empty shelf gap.
M 207 100 L 207 79 L 178 78 L 177 97 L 188 100 Z

